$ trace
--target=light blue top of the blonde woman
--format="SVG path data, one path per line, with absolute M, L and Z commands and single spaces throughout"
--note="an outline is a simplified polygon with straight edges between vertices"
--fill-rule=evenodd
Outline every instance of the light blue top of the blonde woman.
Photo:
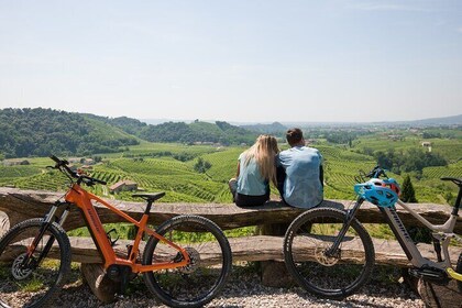
M 249 165 L 245 165 L 245 154 L 239 155 L 239 177 L 237 191 L 248 196 L 263 196 L 268 189 L 268 183 L 261 173 L 255 160 L 252 158 Z

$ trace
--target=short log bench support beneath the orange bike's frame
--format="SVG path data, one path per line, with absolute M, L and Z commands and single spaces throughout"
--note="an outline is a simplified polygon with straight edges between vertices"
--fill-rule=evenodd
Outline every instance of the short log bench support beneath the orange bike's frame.
M 84 282 L 88 284 L 95 296 L 105 304 L 116 300 L 116 293 L 119 284 L 111 280 L 107 275 L 102 264 L 82 263 L 81 275 Z

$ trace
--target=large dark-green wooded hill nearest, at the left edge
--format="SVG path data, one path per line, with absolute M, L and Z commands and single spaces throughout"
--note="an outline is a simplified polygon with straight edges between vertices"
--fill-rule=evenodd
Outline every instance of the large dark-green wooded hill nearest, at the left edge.
M 52 109 L 0 110 L 0 157 L 118 152 L 139 140 L 85 114 Z

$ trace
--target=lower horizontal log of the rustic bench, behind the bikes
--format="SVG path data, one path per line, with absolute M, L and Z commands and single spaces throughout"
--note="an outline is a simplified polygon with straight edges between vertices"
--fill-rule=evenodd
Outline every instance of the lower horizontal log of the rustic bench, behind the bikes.
M 268 237 L 268 235 L 255 235 L 255 237 L 245 237 L 245 238 L 231 238 L 229 239 L 233 261 L 284 261 L 283 254 L 283 237 Z M 411 264 L 406 257 L 406 254 L 399 246 L 397 241 L 387 241 L 381 239 L 373 239 L 375 248 L 375 263 L 378 265 L 394 265 L 398 267 L 410 267 Z M 113 246 L 117 255 L 120 257 L 127 257 L 127 245 L 132 243 L 128 240 L 119 240 L 118 243 Z M 145 242 L 142 242 L 140 245 L 140 251 L 143 252 Z M 197 244 L 189 244 L 187 246 L 195 248 Z M 207 249 L 204 248 L 204 243 L 200 244 L 201 251 L 207 251 L 207 254 L 201 255 L 201 262 L 212 265 L 216 264 L 219 260 L 219 250 L 217 248 Z M 79 263 L 102 263 L 101 255 L 97 251 L 91 238 L 70 238 L 70 246 L 73 252 L 73 261 Z M 175 256 L 174 252 L 168 252 L 166 249 L 158 251 L 157 261 L 161 260 L 172 260 Z M 305 242 L 301 246 L 297 249 L 300 255 L 305 256 L 301 260 L 312 261 L 314 251 L 316 246 L 312 245 L 312 242 Z M 15 245 L 9 246 L 11 250 L 11 255 L 13 255 L 12 250 L 24 250 L 23 243 L 19 242 Z M 422 252 L 425 257 L 436 261 L 435 253 L 432 251 L 432 245 L 430 244 L 420 244 L 419 250 Z M 460 249 L 450 248 L 450 257 L 451 261 L 457 263 Z M 349 262 L 355 262 L 358 256 L 364 254 L 362 246 L 358 245 L 352 241 L 348 245 L 342 246 L 342 256 L 344 256 Z M 51 257 L 57 257 L 55 249 L 51 251 Z M 8 254 L 2 255 L 2 260 L 8 258 Z

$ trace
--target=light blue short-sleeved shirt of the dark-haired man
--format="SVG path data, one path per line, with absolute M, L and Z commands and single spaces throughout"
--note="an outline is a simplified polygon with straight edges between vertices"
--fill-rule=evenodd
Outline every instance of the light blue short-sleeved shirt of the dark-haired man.
M 309 209 L 322 201 L 321 164 L 322 155 L 314 147 L 294 146 L 279 153 L 277 165 L 286 170 L 283 196 L 288 205 Z

